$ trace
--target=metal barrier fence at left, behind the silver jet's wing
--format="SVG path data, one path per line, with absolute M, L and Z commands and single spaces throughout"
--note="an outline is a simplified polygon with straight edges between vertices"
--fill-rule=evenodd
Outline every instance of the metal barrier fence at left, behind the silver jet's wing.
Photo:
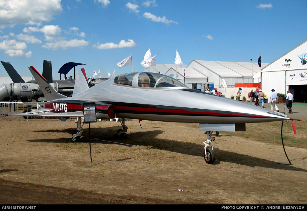
M 44 102 L 0 102 L 0 118 L 24 118 L 22 116 L 6 116 L 7 114 L 20 114 L 28 111 L 39 110 L 45 107 Z M 40 118 L 40 117 L 28 117 Z

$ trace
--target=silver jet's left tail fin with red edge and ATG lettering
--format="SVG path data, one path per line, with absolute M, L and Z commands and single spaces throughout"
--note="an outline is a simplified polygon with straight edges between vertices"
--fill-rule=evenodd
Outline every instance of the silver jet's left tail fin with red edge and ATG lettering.
M 35 78 L 38 86 L 41 88 L 43 94 L 45 95 L 45 98 L 47 101 L 56 100 L 59 98 L 68 98 L 63 94 L 58 93 L 53 87 L 44 79 L 37 70 L 31 66 L 29 67 L 29 70 L 31 71 L 33 77 Z

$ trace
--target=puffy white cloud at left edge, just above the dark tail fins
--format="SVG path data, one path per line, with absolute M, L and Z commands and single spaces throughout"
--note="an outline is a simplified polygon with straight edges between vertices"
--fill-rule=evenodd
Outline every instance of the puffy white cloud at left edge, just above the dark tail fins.
M 4 53 L 10 57 L 30 58 L 32 56 L 32 52 L 29 51 L 25 53 L 24 50 L 27 49 L 27 44 L 16 40 L 4 40 L 0 43 L 0 50 L 4 50 Z

